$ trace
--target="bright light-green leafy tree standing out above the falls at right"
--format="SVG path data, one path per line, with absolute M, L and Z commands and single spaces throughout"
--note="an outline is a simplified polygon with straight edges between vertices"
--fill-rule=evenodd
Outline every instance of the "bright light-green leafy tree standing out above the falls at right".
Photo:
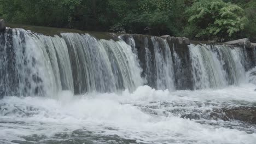
M 245 28 L 244 10 L 236 4 L 222 0 L 200 0 L 186 13 L 189 23 L 185 34 L 192 38 L 223 41 L 234 38 L 235 34 Z

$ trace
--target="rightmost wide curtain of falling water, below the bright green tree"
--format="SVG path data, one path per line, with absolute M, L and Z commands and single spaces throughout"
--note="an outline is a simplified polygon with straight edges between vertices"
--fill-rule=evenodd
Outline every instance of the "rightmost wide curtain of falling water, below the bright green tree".
M 224 45 L 190 45 L 194 89 L 238 85 L 245 77 L 242 50 Z

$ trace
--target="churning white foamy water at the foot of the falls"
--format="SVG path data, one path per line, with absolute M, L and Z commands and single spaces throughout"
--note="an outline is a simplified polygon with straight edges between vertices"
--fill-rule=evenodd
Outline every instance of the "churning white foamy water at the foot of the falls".
M 169 92 L 143 86 L 133 93 L 75 97 L 64 91 L 59 99 L 5 97 L 0 101 L 0 143 L 79 143 L 97 135 L 101 140 L 90 143 L 118 143 L 111 136 L 119 137 L 121 143 L 254 143 L 255 125 L 207 117 L 181 118 L 193 112 L 205 116 L 220 107 L 255 106 L 254 88 L 249 84 Z M 102 141 L 105 136 L 108 139 Z

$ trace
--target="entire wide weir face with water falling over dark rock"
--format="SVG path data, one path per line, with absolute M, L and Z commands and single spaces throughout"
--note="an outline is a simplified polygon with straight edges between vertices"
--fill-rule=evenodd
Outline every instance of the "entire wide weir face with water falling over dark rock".
M 149 35 L 97 39 L 7 28 L 0 33 L 0 97 L 135 91 L 143 85 L 169 91 L 223 88 L 247 82 L 255 53 L 255 48 L 188 45 Z

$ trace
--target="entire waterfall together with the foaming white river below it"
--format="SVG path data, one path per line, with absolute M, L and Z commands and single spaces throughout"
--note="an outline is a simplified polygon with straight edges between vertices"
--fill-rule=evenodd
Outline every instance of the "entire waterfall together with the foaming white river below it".
M 0 143 L 255 143 L 247 49 L 113 39 L 0 33 Z

